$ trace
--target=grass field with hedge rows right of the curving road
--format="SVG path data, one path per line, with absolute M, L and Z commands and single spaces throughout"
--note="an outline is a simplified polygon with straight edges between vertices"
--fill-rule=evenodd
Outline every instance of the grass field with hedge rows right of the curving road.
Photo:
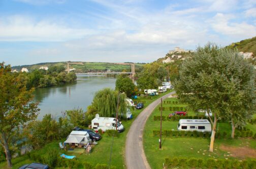
M 167 101 L 177 101 L 175 98 L 167 98 Z M 185 107 L 181 104 L 163 104 L 163 107 Z M 159 107 L 159 106 L 158 106 Z M 153 130 L 160 130 L 160 121 L 154 121 L 153 116 L 160 115 L 158 107 L 149 116 L 143 136 L 144 151 L 151 168 L 163 168 L 163 162 L 167 157 L 195 157 L 195 158 L 220 158 L 220 159 L 233 159 L 228 151 L 222 149 L 223 146 L 232 147 L 246 147 L 249 149 L 256 149 L 256 140 L 252 139 L 215 139 L 214 152 L 208 151 L 210 138 L 162 138 L 162 149 L 159 150 L 159 137 L 153 137 Z M 163 111 L 163 115 L 174 111 Z M 188 110 L 188 115 L 195 115 L 195 112 Z M 163 121 L 162 130 L 177 130 L 178 121 Z M 248 124 L 247 128 L 256 132 L 256 124 Z M 219 132 L 226 131 L 228 136 L 231 134 L 231 125 L 229 123 L 217 123 L 217 130 Z M 236 157 L 241 158 L 241 157 Z M 242 159 L 242 158 L 241 158 Z

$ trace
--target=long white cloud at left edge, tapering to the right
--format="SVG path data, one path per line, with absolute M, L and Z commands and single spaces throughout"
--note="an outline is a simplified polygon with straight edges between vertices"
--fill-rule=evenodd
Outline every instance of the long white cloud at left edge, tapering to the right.
M 82 38 L 93 32 L 24 16 L 0 18 L 0 41 L 63 41 Z

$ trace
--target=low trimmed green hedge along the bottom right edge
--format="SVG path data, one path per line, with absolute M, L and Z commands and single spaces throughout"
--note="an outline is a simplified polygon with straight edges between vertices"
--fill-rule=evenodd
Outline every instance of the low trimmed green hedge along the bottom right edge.
M 237 159 L 202 159 L 202 158 L 186 158 L 173 157 L 165 159 L 165 168 L 256 168 L 255 159 L 237 160 Z

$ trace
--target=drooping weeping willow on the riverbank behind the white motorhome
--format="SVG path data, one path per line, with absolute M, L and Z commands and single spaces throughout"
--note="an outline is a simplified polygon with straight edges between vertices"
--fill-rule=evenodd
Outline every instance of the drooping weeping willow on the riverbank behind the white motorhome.
M 95 93 L 92 105 L 93 107 L 97 108 L 97 112 L 100 114 L 100 116 L 112 117 L 115 115 L 117 110 L 118 97 L 118 112 L 122 112 L 125 114 L 126 95 L 120 94 L 118 93 L 118 91 L 112 90 L 110 88 L 105 88 Z

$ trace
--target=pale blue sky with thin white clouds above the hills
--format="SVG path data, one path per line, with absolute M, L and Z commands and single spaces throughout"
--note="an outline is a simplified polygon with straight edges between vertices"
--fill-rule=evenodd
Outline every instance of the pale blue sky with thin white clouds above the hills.
M 256 36 L 256 1 L 0 0 L 0 62 L 143 62 Z

